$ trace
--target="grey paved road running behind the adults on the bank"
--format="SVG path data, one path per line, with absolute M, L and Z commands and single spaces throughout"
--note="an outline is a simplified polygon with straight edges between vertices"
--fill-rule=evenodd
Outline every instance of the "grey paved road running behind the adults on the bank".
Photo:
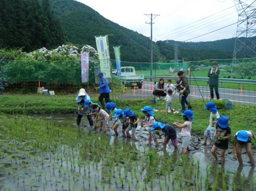
M 117 96 L 118 98 L 153 98 L 152 88 L 154 86 L 153 81 L 144 81 L 143 88 L 135 88 L 135 92 L 127 93 Z M 219 88 L 220 99 L 229 99 L 234 103 L 246 103 L 256 105 L 256 92 L 241 89 Z M 209 100 L 210 91 L 208 86 L 194 86 L 190 88 L 191 99 L 206 99 Z M 176 94 L 174 99 L 178 99 Z

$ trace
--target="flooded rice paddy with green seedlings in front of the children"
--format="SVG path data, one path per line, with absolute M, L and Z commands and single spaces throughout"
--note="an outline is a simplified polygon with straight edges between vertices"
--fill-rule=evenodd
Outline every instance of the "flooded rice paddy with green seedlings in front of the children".
M 0 120 L 1 191 L 256 188 L 249 163 L 238 167 L 228 150 L 226 164 L 219 165 L 209 152 L 211 145 L 202 146 L 197 136 L 192 151 L 183 156 L 170 144 L 167 152 L 147 147 L 148 132 L 140 127 L 139 141 L 116 138 L 109 129 L 99 133 L 87 123 L 75 126 L 74 114 L 1 115 Z

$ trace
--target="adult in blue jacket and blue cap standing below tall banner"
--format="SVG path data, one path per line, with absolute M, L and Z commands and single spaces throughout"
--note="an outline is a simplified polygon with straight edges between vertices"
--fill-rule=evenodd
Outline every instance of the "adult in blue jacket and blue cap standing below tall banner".
M 99 71 L 97 73 L 97 75 L 100 78 L 99 87 L 96 88 L 96 89 L 99 89 L 99 93 L 100 93 L 99 102 L 101 104 L 101 108 L 105 109 L 106 107 L 105 107 L 105 103 L 104 103 L 103 99 L 105 98 L 106 103 L 110 102 L 110 99 L 109 99 L 110 89 L 109 89 L 109 86 L 108 86 L 108 81 L 104 77 L 103 72 Z

